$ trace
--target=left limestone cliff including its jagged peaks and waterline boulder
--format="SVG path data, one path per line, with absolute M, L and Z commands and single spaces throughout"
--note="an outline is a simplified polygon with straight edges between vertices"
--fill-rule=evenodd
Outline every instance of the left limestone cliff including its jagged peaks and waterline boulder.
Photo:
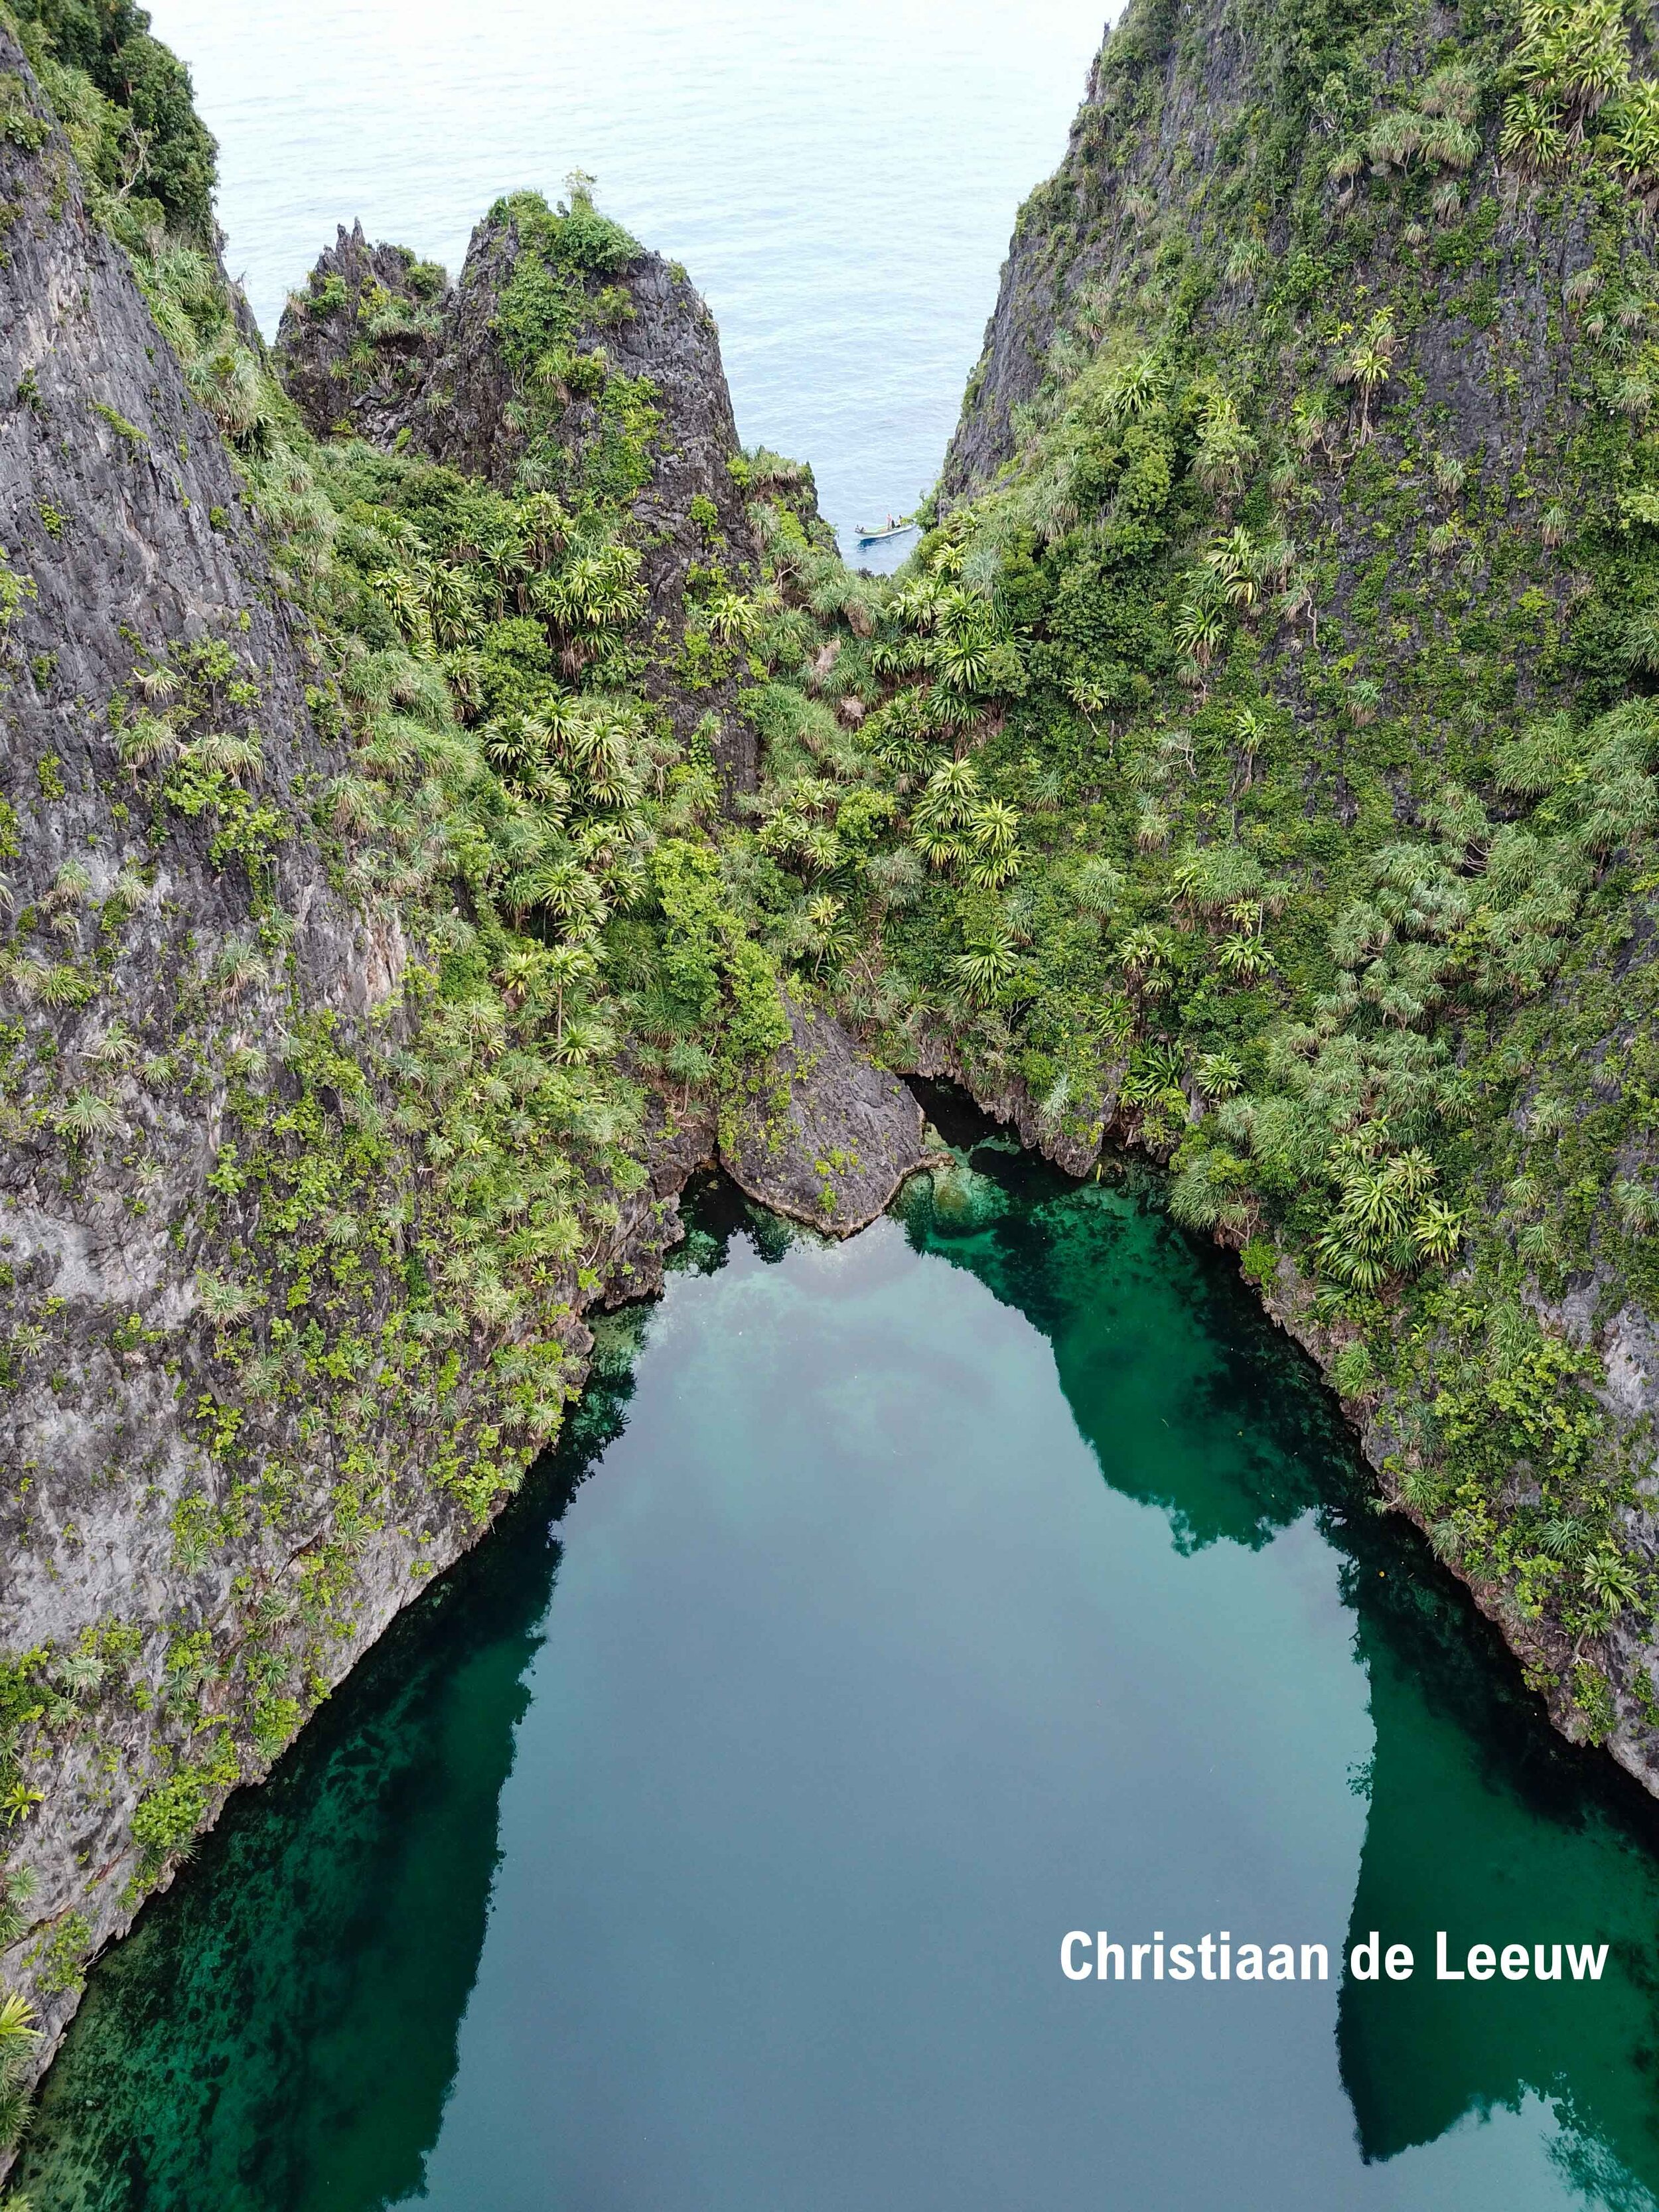
M 321 299 L 425 285 L 434 321 L 330 407 L 354 310 L 290 316 L 301 407 L 358 409 L 336 453 L 2 13 L 0 208 L 0 1989 L 35 2070 L 86 1962 L 557 1431 L 582 1312 L 657 1283 L 721 1124 L 763 1192 L 805 1144 L 847 1228 L 920 1117 L 823 1022 L 834 1068 L 768 1073 L 812 1018 L 710 841 L 754 732 L 684 597 L 701 555 L 741 608 L 752 542 L 679 272 L 628 241 L 606 367 L 568 285 L 580 365 L 515 414 L 500 323 L 546 210 L 484 223 L 453 294 L 343 239 Z M 526 447 L 542 489 L 495 491 Z M 482 650 L 398 626 L 405 495 L 507 531 L 500 588 L 411 555 Z

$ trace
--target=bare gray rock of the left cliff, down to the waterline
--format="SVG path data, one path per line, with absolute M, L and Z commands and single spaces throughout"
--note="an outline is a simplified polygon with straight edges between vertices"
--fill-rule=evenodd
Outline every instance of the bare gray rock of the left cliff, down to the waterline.
M 44 122 L 2 29 L 0 71 Z M 365 1035 L 405 947 L 396 925 L 365 922 L 330 887 L 307 787 L 338 763 L 305 699 L 310 641 L 272 584 L 217 429 L 126 259 L 86 217 L 55 131 L 38 150 L 0 144 L 0 199 L 15 210 L 0 257 L 0 843 L 13 847 L 0 958 L 0 1759 L 27 1730 L 29 1781 L 46 1796 L 0 1832 L 7 1871 L 33 1876 L 0 1986 L 35 2004 L 44 2064 L 82 1962 L 144 1893 L 133 1814 L 199 1754 L 179 1650 L 212 1663 L 208 1717 L 246 1692 L 257 1646 L 296 1714 L 482 1524 L 431 1484 L 418 1416 L 372 1440 L 392 1486 L 378 1524 L 349 1540 L 336 1438 L 303 1409 L 252 1416 L 241 1433 L 241 1467 L 288 1471 L 276 1513 L 250 1504 L 199 1418 L 219 1376 L 199 1272 L 234 1263 L 234 1232 L 210 1234 L 204 1217 L 237 1068 L 265 1082 L 268 1113 L 292 1104 L 281 1051 L 294 1022 L 332 1018 L 347 1044 Z M 159 803 L 155 774 L 122 765 L 117 730 L 161 666 L 195 670 L 208 717 L 261 748 L 248 794 L 270 810 L 259 887 L 241 858 L 215 852 L 210 812 Z M 248 1077 L 259 1053 L 268 1075 Z M 595 1294 L 650 1290 L 677 1234 L 672 1190 L 628 1199 Z M 577 1378 L 588 1294 L 575 1279 L 564 1294 Z M 478 1429 L 498 1413 L 493 1347 L 465 1349 L 462 1425 Z M 206 1546 L 192 1537 L 204 1522 Z M 352 1571 L 319 1635 L 307 1575 L 341 1542 Z M 82 1679 L 53 1672 L 20 1717 L 11 1668 L 42 1648 L 80 1652 Z M 243 1776 L 263 1772 L 281 1734 L 239 1743 Z M 186 1825 L 210 1823 L 226 1787 L 228 1774 L 204 1774 Z

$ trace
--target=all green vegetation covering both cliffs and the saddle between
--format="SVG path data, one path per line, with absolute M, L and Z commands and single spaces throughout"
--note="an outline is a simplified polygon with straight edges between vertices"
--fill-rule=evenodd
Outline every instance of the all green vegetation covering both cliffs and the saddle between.
M 281 1750 L 338 1672 L 363 1548 L 482 1522 L 555 1436 L 650 1146 L 770 1110 L 783 982 L 894 1066 L 1029 1104 L 1077 1166 L 1108 1135 L 1161 1161 L 1582 1732 L 1659 1723 L 1608 1672 L 1659 1604 L 1628 1526 L 1648 1440 L 1588 1347 L 1659 1298 L 1659 93 L 1599 0 L 1458 40 L 1407 4 L 1252 20 L 1232 119 L 1168 175 L 1203 24 L 1137 4 L 1110 38 L 1022 210 L 1055 323 L 995 480 L 872 580 L 807 469 L 732 456 L 761 573 L 692 500 L 670 644 L 633 513 L 661 394 L 595 338 L 635 312 L 639 248 L 591 179 L 491 210 L 511 480 L 349 418 L 319 442 L 237 327 L 181 73 L 135 11 L 29 13 L 91 208 L 234 458 L 243 502 L 208 520 L 263 542 L 314 748 L 294 770 L 234 622 L 135 635 L 122 834 L 0 942 L 0 1126 L 66 1192 L 119 1168 L 148 1210 L 131 1086 L 221 1106 L 195 1314 L 119 1316 L 108 1354 L 166 1365 L 212 1464 L 166 1506 L 179 1577 L 265 1531 L 292 1553 L 212 1635 L 111 1619 L 18 1661 L 0 1818 L 35 1818 L 35 1761 L 102 1705 L 153 1714 L 135 1898 Z M 0 128 L 33 126 L 7 100 Z M 434 332 L 442 272 L 400 281 L 299 299 L 345 316 L 347 396 Z M 0 661 L 31 591 L 0 560 Z M 721 787 L 712 719 L 677 730 L 664 677 L 739 688 L 759 790 Z M 18 803 L 66 796 L 46 757 Z M 212 942 L 161 896 L 184 838 L 241 914 Z M 374 949 L 361 1020 L 301 989 L 301 852 Z M 139 922 L 170 998 L 144 1029 L 113 989 Z M 31 1048 L 53 1011 L 88 1018 L 73 1071 L 55 1033 Z M 18 1307 L 0 1383 L 69 1389 L 62 1301 Z M 64 1927 L 42 1986 L 82 1971 Z

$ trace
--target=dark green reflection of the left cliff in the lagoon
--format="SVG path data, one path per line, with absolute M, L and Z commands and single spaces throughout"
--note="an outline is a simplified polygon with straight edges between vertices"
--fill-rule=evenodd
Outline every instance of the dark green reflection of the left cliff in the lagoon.
M 29 2146 L 35 2212 L 367 2212 L 418 2192 L 557 1577 L 551 1520 L 628 1389 L 626 1367 L 588 1389 L 493 1540 L 232 1798 L 97 1969 Z

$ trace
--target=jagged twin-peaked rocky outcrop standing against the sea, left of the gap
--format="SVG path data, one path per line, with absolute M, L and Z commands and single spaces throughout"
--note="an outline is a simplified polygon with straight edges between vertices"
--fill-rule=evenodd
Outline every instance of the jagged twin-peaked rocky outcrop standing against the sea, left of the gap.
M 500 489 L 580 493 L 599 478 L 622 489 L 646 588 L 644 688 L 681 737 L 712 717 L 726 781 L 750 792 L 757 739 L 737 712 L 732 655 L 688 653 L 692 571 L 719 566 L 739 588 L 757 575 L 714 319 L 684 268 L 626 241 L 615 268 L 553 265 L 564 312 L 546 321 L 557 321 L 557 341 L 513 343 L 520 316 L 509 307 L 504 330 L 504 303 L 515 279 L 546 285 L 544 228 L 544 210 L 500 201 L 473 230 L 460 281 L 431 305 L 420 296 L 427 265 L 407 248 L 369 248 L 361 226 L 341 230 L 290 299 L 279 372 L 319 438 L 349 431 Z M 540 354 L 524 358 L 535 343 Z M 538 422 L 549 438 L 535 438 Z M 628 438 L 644 453 L 637 484 Z M 706 633 L 699 641 L 708 648 Z

